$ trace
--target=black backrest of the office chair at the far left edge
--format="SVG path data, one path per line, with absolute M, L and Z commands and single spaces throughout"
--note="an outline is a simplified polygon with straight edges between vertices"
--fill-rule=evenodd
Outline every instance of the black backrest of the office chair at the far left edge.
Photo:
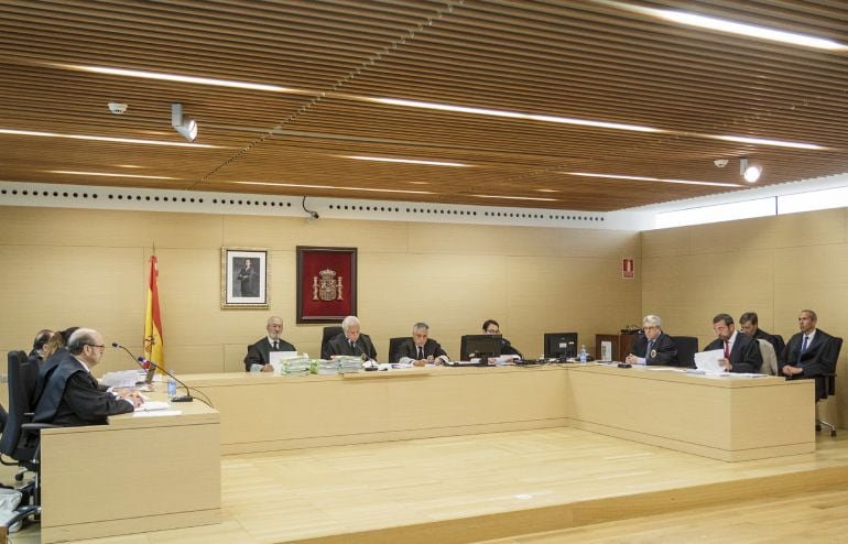
M 19 460 L 31 460 L 35 445 L 21 440 L 21 425 L 31 423 L 39 367 L 26 360 L 24 351 L 9 351 L 9 415 L 0 436 L 0 453 Z

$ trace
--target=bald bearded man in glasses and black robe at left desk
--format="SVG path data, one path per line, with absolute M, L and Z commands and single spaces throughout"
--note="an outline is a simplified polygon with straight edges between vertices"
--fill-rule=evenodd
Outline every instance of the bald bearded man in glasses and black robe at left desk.
M 35 423 L 61 426 L 106 425 L 110 415 L 132 412 L 142 403 L 138 391 L 120 394 L 100 385 L 90 369 L 104 356 L 104 338 L 97 330 L 79 328 L 70 335 L 35 406 Z

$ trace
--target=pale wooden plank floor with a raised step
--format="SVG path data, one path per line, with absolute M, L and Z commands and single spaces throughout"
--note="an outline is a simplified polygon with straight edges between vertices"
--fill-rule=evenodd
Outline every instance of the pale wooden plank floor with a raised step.
M 558 427 L 229 456 L 221 483 L 220 525 L 84 542 L 739 543 L 848 534 L 848 436 L 820 437 L 815 454 L 725 463 Z M 166 492 L 166 482 L 151 485 Z M 37 525 L 9 541 L 37 543 Z

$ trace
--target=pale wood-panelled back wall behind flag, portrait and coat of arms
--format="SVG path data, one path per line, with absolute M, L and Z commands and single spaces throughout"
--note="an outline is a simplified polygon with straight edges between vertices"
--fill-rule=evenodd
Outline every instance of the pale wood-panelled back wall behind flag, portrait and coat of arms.
M 295 324 L 295 247 L 357 247 L 359 317 L 380 358 L 389 338 L 426 320 L 458 357 L 459 337 L 497 318 L 526 356 L 542 334 L 596 333 L 639 319 L 641 283 L 621 280 L 638 233 L 530 227 L 325 220 L 57 208 L 0 208 L 0 349 L 36 330 L 84 325 L 141 349 L 148 258 L 156 244 L 165 359 L 176 372 L 242 371 L 269 315 L 318 353 L 323 325 Z M 220 248 L 270 249 L 271 309 L 220 309 Z M 127 368 L 107 350 L 99 372 Z

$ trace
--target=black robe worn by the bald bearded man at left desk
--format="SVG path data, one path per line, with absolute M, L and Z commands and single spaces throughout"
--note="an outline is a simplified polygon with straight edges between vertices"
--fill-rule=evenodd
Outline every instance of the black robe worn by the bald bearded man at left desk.
M 62 426 L 106 425 L 107 417 L 127 414 L 131 403 L 116 399 L 65 351 L 35 406 L 35 423 Z

